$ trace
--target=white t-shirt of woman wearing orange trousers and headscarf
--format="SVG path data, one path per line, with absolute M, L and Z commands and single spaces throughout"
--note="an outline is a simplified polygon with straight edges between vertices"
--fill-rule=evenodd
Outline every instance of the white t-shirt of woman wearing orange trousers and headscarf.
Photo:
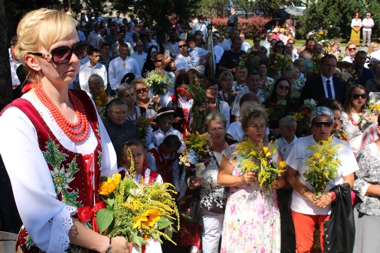
M 348 143 L 341 141 L 335 137 L 333 137 L 333 142 L 334 145 L 341 144 L 341 147 L 336 151 L 338 159 L 340 160 L 340 165 L 338 165 L 338 173 L 336 178 L 330 180 L 325 192 L 329 192 L 331 188 L 343 183 L 343 177 L 359 170 L 354 153 L 352 152 Z M 303 176 L 303 173 L 305 173 L 309 168 L 304 164 L 307 161 L 309 155 L 313 152 L 311 150 L 307 150 L 310 144 L 318 145 L 314 140 L 314 135 L 299 138 L 294 144 L 294 147 L 290 152 L 288 159 L 286 159 L 286 163 L 289 167 L 292 167 L 295 171 L 298 172 L 297 179 L 301 181 L 301 183 L 305 185 L 309 190 L 313 191 L 313 187 L 309 182 L 306 182 L 306 178 Z M 297 191 L 293 191 L 291 209 L 294 212 L 306 215 L 328 215 L 330 214 L 331 205 L 328 205 L 326 208 L 322 209 L 315 206 L 312 201 L 308 200 Z

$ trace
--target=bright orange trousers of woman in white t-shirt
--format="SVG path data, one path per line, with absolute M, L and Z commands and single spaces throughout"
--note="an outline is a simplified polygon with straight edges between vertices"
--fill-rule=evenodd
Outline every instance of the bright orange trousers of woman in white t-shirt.
M 292 218 L 295 230 L 295 252 L 310 252 L 314 244 L 314 230 L 318 225 L 321 231 L 321 248 L 324 252 L 323 222 L 330 219 L 329 215 L 305 215 L 292 211 Z

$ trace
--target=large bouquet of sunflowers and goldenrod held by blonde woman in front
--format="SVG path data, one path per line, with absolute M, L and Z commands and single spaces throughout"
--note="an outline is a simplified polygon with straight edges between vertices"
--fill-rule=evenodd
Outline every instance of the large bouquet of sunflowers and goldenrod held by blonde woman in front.
M 131 153 L 130 150 L 129 152 Z M 149 239 L 157 239 L 162 243 L 160 236 L 163 236 L 173 242 L 172 225 L 177 220 L 179 230 L 179 213 L 175 199 L 171 196 L 171 193 L 176 193 L 171 190 L 173 185 L 148 185 L 142 178 L 141 182 L 136 182 L 133 170 L 131 157 L 129 174 L 123 180 L 120 180 L 120 174 L 115 174 L 112 178 L 101 178 L 99 195 L 106 203 L 106 208 L 96 212 L 96 223 L 100 233 L 105 231 L 109 237 L 124 236 L 137 244 L 141 252 L 141 246 Z

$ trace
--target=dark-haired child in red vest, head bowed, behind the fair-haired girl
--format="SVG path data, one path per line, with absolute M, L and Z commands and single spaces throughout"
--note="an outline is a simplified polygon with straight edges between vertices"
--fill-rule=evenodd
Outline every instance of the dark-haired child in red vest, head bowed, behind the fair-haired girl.
M 159 173 L 164 183 L 172 183 L 179 192 L 178 149 L 181 142 L 178 136 L 168 135 L 158 146 L 148 150 L 147 161 L 150 170 Z

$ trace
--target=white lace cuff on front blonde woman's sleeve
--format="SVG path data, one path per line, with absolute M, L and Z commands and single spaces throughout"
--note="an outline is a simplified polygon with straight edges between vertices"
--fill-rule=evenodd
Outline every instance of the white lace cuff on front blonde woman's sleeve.
M 69 247 L 70 239 L 68 238 L 68 232 L 74 225 L 71 216 L 77 213 L 77 208 L 66 205 L 62 212 L 54 216 L 52 221 L 52 231 L 50 236 L 50 244 L 56 248 L 57 252 L 64 253 Z M 55 246 L 52 244 L 56 244 Z

